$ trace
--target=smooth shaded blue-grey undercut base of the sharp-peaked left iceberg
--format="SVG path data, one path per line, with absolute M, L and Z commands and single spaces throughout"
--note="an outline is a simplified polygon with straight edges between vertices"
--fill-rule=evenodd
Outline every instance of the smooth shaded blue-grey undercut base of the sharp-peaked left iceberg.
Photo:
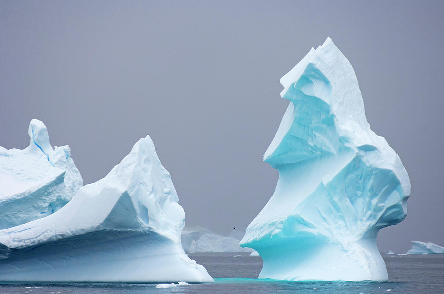
M 180 244 L 154 232 L 100 231 L 0 254 L 6 282 L 213 282 Z

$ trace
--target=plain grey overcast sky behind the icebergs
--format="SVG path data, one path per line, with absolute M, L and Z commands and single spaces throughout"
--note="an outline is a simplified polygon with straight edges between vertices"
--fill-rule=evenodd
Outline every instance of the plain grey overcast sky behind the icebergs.
M 288 101 L 279 78 L 330 36 L 412 194 L 381 250 L 444 245 L 443 1 L 0 1 L 0 146 L 32 118 L 85 184 L 149 134 L 186 226 L 245 229 L 278 174 L 262 161 Z

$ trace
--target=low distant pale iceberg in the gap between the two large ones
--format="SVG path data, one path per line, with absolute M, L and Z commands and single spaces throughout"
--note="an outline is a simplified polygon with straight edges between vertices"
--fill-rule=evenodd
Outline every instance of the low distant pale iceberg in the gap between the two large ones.
M 186 252 L 240 252 L 252 251 L 239 246 L 239 239 L 225 237 L 201 227 L 185 227 L 182 231 L 182 246 Z

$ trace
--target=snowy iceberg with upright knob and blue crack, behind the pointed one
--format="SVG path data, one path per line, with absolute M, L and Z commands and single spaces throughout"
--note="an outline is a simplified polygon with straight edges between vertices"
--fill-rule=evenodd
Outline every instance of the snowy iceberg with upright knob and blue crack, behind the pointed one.
M 49 143 L 43 122 L 33 119 L 27 148 L 0 147 L 0 229 L 17 226 L 62 208 L 82 187 L 70 147 Z

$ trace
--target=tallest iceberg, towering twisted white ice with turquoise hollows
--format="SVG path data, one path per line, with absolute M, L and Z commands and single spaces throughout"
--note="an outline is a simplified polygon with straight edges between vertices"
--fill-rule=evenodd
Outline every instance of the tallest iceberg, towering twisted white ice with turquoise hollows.
M 259 278 L 387 280 L 376 237 L 406 217 L 410 180 L 371 131 L 350 62 L 327 38 L 280 82 L 290 102 L 264 154 L 279 179 L 241 246 L 262 257 Z

